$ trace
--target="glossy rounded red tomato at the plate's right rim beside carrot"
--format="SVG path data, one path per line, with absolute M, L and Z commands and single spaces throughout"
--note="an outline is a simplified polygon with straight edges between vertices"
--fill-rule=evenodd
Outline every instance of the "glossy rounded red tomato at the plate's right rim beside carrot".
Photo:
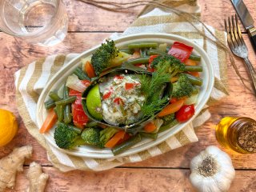
M 194 115 L 194 105 L 185 105 L 182 106 L 175 114 L 178 122 L 186 122 Z

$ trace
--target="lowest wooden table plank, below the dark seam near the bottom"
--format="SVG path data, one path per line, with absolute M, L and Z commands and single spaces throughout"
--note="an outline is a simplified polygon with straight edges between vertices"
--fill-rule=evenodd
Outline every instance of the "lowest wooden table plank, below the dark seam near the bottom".
M 59 173 L 52 167 L 44 167 L 50 175 L 46 191 L 113 191 L 113 192 L 150 192 L 150 191 L 187 191 L 194 192 L 189 181 L 190 170 L 176 169 L 133 169 L 114 168 L 104 172 L 92 173 L 70 171 Z M 18 174 L 15 192 L 25 191 L 28 186 L 26 172 Z M 256 188 L 254 171 L 236 171 L 230 191 L 253 192 Z M 6 190 L 6 192 L 10 190 Z

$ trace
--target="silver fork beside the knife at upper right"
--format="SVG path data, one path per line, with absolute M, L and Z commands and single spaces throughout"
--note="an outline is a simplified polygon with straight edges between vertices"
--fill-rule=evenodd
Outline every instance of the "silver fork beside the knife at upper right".
M 256 94 L 256 72 L 248 58 L 248 49 L 242 38 L 241 30 L 238 26 L 238 16 L 235 14 L 235 16 L 232 15 L 231 19 L 228 18 L 228 24 L 225 19 L 224 25 L 230 50 L 233 52 L 233 54 L 245 60 L 246 66 L 250 72 L 250 77 L 254 83 L 254 94 Z

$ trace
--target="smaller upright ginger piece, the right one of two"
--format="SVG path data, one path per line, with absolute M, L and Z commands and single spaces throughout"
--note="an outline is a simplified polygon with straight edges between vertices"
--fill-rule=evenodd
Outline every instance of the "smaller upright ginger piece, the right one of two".
M 42 173 L 42 166 L 36 162 L 32 162 L 30 163 L 27 178 L 30 180 L 30 188 L 27 190 L 28 192 L 43 192 L 49 175 Z

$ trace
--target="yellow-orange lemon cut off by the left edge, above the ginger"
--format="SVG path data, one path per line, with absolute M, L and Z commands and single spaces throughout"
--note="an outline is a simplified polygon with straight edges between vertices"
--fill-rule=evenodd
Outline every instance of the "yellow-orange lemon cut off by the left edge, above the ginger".
M 10 142 L 18 130 L 18 123 L 13 113 L 0 109 L 0 146 Z

